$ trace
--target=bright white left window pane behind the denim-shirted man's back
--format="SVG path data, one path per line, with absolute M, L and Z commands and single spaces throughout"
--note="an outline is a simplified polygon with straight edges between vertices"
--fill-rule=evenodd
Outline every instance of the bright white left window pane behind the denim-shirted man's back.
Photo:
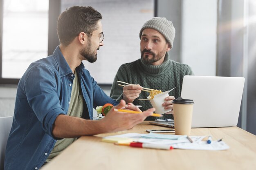
M 49 0 L 1 2 L 0 84 L 16 84 L 31 62 L 47 56 Z

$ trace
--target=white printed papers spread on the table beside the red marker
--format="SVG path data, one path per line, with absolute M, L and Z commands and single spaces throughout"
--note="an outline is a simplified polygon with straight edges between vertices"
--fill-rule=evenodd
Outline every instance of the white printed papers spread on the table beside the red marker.
M 108 136 L 112 137 L 124 137 L 132 138 L 135 142 L 141 142 L 145 144 L 156 145 L 168 145 L 173 146 L 176 149 L 188 149 L 188 150 L 227 150 L 229 146 L 224 141 L 212 141 L 211 144 L 207 144 L 207 141 L 202 141 L 205 136 L 190 136 L 193 140 L 191 143 L 186 135 L 163 135 L 163 134 L 140 134 L 140 133 L 126 133 L 122 135 Z

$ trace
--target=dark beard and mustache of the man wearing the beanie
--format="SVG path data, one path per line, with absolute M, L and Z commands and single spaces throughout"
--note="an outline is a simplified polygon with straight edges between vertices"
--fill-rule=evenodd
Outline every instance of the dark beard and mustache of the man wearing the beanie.
M 152 64 L 154 62 L 157 62 L 159 61 L 162 57 L 164 57 L 164 54 L 166 53 L 165 50 L 161 51 L 160 53 L 158 53 L 157 55 L 152 52 L 151 50 L 147 50 L 147 49 L 144 49 L 143 51 L 140 51 L 141 53 L 141 60 L 146 63 L 146 64 Z M 149 55 L 145 55 L 144 57 L 144 53 L 150 53 L 153 57 L 152 58 L 149 58 Z

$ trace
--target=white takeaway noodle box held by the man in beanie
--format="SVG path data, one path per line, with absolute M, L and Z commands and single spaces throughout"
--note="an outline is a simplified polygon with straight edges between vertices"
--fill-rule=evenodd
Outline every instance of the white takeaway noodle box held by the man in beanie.
M 155 95 L 155 97 L 153 99 L 149 99 L 151 105 L 153 106 L 153 108 L 155 108 L 155 113 L 158 114 L 164 114 L 167 112 L 170 112 L 172 109 L 164 109 L 164 106 L 162 106 L 162 104 L 165 102 L 165 97 L 169 96 L 170 91 L 165 91 L 163 93 L 157 94 Z

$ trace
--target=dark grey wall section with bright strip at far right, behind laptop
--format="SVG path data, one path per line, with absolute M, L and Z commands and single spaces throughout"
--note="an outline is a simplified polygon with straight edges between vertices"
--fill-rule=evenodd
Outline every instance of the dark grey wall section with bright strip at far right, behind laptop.
M 256 2 L 225 0 L 218 5 L 216 75 L 245 77 L 238 126 L 256 134 Z

